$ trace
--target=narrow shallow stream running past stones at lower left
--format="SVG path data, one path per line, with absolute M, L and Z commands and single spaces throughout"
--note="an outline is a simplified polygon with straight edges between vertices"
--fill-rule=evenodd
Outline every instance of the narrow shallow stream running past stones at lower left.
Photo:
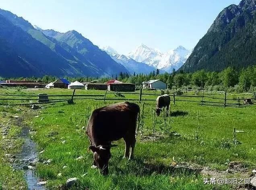
M 28 137 L 28 134 L 29 129 L 23 127 L 20 137 L 24 139 L 24 144 L 21 153 L 16 155 L 17 160 L 20 160 L 21 162 L 19 164 L 14 164 L 14 168 L 22 169 L 22 166 L 27 166 L 29 161 L 33 161 L 37 158 L 36 144 Z M 24 170 L 24 172 L 28 190 L 46 190 L 44 186 L 37 185 L 39 178 L 33 170 Z

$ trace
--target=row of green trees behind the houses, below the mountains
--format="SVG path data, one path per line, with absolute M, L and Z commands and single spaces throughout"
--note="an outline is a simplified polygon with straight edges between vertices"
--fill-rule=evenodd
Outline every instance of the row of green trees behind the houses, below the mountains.
M 128 73 L 120 73 L 112 77 L 65 77 L 68 81 L 87 82 L 93 81 L 97 83 L 104 83 L 111 79 L 116 79 L 125 83 L 133 83 L 136 86 L 141 86 L 143 81 L 153 79 L 160 79 L 167 83 L 169 89 L 205 89 L 217 91 L 256 91 L 256 66 L 248 67 L 237 72 L 235 69 L 228 67 L 221 72 L 206 72 L 204 70 L 196 71 L 194 73 L 184 73 L 183 71 L 176 72 L 173 69 L 172 73 L 160 74 L 159 70 L 151 73 L 129 75 Z M 17 79 L 17 78 L 16 78 Z M 24 79 L 24 78 L 19 78 Z M 57 77 L 47 76 L 41 78 L 31 77 L 27 80 L 39 80 L 44 83 L 55 81 Z

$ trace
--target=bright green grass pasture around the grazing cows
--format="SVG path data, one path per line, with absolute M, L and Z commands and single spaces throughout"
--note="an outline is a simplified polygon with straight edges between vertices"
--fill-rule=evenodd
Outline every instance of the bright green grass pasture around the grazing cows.
M 54 95 L 72 94 L 72 90 L 0 90 L 0 94 L 4 93 Z M 89 93 L 104 95 L 105 91 L 76 90 L 76 94 Z M 155 92 L 144 91 L 144 93 Z M 138 99 L 138 95 L 124 95 L 127 99 Z M 194 95 L 194 93 L 185 95 Z M 223 98 L 223 94 L 206 93 L 205 95 Z M 233 94 L 228 95 L 227 98 L 233 99 L 238 96 L 244 98 L 251 95 Z M 107 95 L 107 98 L 111 97 L 114 95 Z M 156 97 L 143 95 L 142 99 L 155 99 Z M 201 174 L 191 172 L 186 168 L 175 170 L 173 166 L 185 162 L 186 164 L 199 164 L 202 167 L 209 166 L 212 170 L 225 171 L 229 162 L 237 161 L 242 163 L 248 171 L 256 169 L 255 106 L 243 108 L 201 106 L 199 103 L 177 101 L 178 99 L 181 97 L 176 99 L 175 105 L 171 103 L 169 118 L 161 113 L 156 120 L 152 113 L 155 101 L 143 101 L 144 117 L 141 122 L 144 125 L 137 136 L 135 158 L 132 161 L 122 159 L 124 141 L 121 139 L 114 142 L 118 147 L 111 149 L 112 158 L 109 163 L 108 176 L 101 176 L 98 170 L 90 168 L 93 155 L 87 150 L 89 141 L 83 127 L 86 126 L 93 109 L 118 101 L 107 100 L 103 103 L 102 100 L 86 99 L 74 100 L 74 105 L 68 105 L 66 102 L 44 105 L 43 109 L 34 111 L 34 114 L 39 117 L 27 116 L 26 119 L 27 125 L 35 130 L 31 138 L 38 144 L 38 151 L 44 150 L 40 158 L 42 160 L 52 159 L 50 164 L 38 164 L 37 174 L 41 179 L 48 181 L 47 188 L 50 189 L 61 188 L 68 178 L 76 177 L 78 189 L 196 190 L 231 189 L 232 187 L 204 185 Z M 187 99 L 200 101 L 198 98 Z M 204 100 L 207 101 L 207 98 Z M 210 101 L 211 98 L 208 100 Z M 12 105 L 17 102 L 20 101 L 0 101 L 3 105 Z M 138 101 L 134 102 L 140 105 L 142 111 L 142 104 Z M 236 133 L 234 137 L 234 128 L 244 133 Z M 63 144 L 62 141 L 66 142 Z M 237 141 L 242 144 L 236 144 Z M 76 160 L 79 156 L 83 156 L 83 159 Z M 2 176 L 1 172 L 0 164 L 0 176 Z M 62 176 L 58 177 L 59 173 Z M 235 175 L 240 174 L 238 172 Z M 23 180 L 21 176 L 17 176 L 17 179 Z M 0 189 L 1 183 L 7 182 L 0 177 Z

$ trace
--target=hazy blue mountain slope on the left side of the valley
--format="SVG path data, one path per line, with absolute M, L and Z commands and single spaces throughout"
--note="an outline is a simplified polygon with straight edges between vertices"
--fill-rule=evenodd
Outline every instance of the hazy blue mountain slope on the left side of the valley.
M 75 30 L 34 28 L 0 9 L 0 76 L 111 76 L 128 70 Z

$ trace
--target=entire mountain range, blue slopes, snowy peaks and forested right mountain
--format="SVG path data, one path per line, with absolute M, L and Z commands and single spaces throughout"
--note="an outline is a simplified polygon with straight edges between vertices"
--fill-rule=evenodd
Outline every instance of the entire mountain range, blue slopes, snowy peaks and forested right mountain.
M 123 73 L 237 70 L 256 64 L 256 0 L 224 8 L 192 51 L 178 46 L 162 53 L 141 44 L 128 55 L 100 49 L 75 30 L 32 26 L 0 9 L 0 76 L 113 76 Z

